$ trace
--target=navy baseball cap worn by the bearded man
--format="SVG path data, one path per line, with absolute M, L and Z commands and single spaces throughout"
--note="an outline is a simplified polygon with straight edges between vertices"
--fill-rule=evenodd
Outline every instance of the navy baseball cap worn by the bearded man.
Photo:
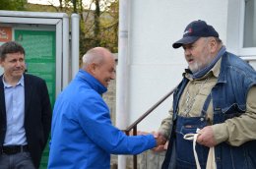
M 219 33 L 213 28 L 206 24 L 206 22 L 198 20 L 190 23 L 183 32 L 183 37 L 172 44 L 173 48 L 179 48 L 183 44 L 193 43 L 200 37 L 219 37 Z

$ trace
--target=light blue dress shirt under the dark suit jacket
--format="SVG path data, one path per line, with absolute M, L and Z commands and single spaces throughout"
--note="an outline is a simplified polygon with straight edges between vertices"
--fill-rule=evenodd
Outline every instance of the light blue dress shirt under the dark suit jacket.
M 4 81 L 7 130 L 4 145 L 27 144 L 24 128 L 25 120 L 25 89 L 24 77 L 12 86 Z

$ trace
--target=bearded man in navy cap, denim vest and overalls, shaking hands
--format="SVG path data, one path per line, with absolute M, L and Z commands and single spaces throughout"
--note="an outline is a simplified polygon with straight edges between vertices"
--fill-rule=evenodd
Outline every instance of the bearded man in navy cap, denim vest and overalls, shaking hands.
M 190 23 L 172 46 L 183 47 L 188 69 L 160 126 L 159 135 L 169 139 L 162 169 L 196 168 L 193 142 L 183 136 L 197 129 L 202 168 L 212 146 L 218 169 L 256 168 L 256 72 L 226 52 L 219 33 L 204 21 Z

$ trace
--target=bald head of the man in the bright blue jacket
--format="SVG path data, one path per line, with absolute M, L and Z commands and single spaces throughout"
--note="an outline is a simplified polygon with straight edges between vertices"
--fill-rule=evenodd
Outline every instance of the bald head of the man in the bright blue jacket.
M 106 48 L 95 47 L 83 56 L 83 69 L 107 86 L 115 78 L 115 60 Z

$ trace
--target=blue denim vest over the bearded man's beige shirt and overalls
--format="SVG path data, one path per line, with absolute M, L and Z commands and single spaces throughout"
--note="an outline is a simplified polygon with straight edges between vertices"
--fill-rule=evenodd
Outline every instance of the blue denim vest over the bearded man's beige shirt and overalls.
M 173 126 L 178 113 L 178 101 L 188 80 L 184 78 L 173 94 Z M 252 85 L 256 85 L 256 72 L 246 62 L 237 56 L 225 52 L 221 73 L 211 94 L 214 107 L 214 124 L 224 123 L 226 119 L 240 116 L 246 110 L 246 97 Z M 173 129 L 172 129 L 173 130 Z M 171 142 L 175 140 L 171 132 Z M 168 147 L 162 169 L 167 169 L 173 158 L 173 150 Z M 240 146 L 231 146 L 222 142 L 215 146 L 218 169 L 255 169 L 256 141 L 247 141 Z M 206 157 L 207 158 L 207 157 Z M 171 160 L 172 159 L 172 160 Z

